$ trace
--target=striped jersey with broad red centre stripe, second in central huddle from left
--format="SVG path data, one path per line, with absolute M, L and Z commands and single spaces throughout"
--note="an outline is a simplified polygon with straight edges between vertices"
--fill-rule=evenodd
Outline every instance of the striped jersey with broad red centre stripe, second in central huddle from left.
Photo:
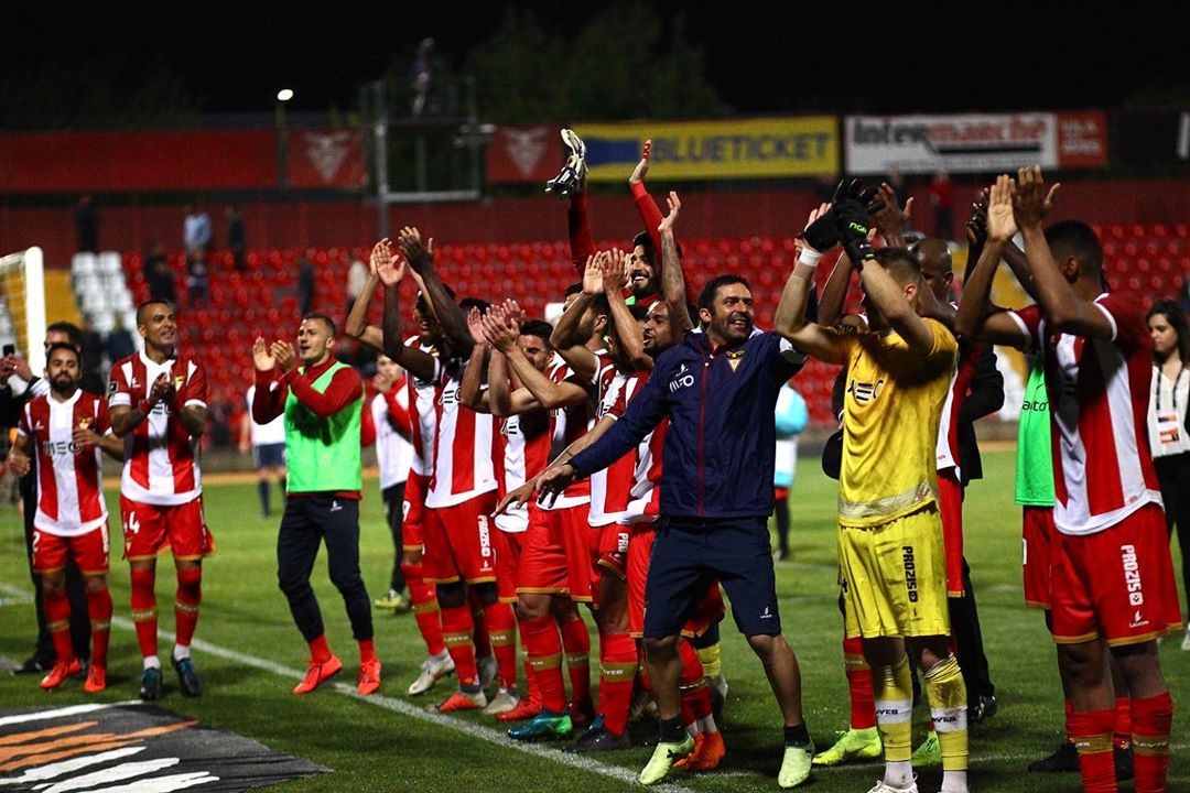
M 426 492 L 426 506 L 434 509 L 462 504 L 496 489 L 491 415 L 476 413 L 458 401 L 465 365 L 465 360 L 451 361 L 443 367 L 440 378 L 434 476 Z

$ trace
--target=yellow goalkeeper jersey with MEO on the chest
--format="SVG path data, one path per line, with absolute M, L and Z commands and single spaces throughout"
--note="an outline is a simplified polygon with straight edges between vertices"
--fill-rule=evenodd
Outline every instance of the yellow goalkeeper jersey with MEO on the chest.
M 896 333 L 831 332 L 846 357 L 839 523 L 870 527 L 937 498 L 938 424 L 951 388 L 958 342 L 937 320 L 928 354 Z

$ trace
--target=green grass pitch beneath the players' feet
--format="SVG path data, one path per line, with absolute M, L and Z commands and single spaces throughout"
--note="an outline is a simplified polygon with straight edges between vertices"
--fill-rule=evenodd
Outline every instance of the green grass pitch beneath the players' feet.
M 1000 713 L 971 730 L 971 787 L 979 792 L 1029 789 L 1078 791 L 1077 775 L 1027 774 L 1025 767 L 1050 754 L 1061 739 L 1061 693 L 1052 642 L 1040 612 L 1026 609 L 1021 598 L 1020 510 L 1013 505 L 1010 452 L 984 455 L 987 478 L 975 483 L 966 499 L 966 555 L 979 604 L 985 649 L 997 686 Z M 826 479 L 816 459 L 802 460 L 790 499 L 793 561 L 777 564 L 785 636 L 798 655 L 803 675 L 807 722 L 820 748 L 829 745 L 834 730 L 847 720 L 847 691 L 840 649 L 841 618 L 835 599 L 834 545 L 835 483 Z M 276 493 L 274 493 L 276 499 Z M 113 492 L 108 506 L 117 509 Z M 383 694 L 362 700 L 351 693 L 357 674 L 355 644 L 338 592 L 326 574 L 325 554 L 313 583 L 322 606 L 331 647 L 344 660 L 343 684 L 308 697 L 290 694 L 296 673 L 305 668 L 306 647 L 276 586 L 276 517 L 257 517 L 256 489 L 245 485 L 208 485 L 207 521 L 218 553 L 203 575 L 202 615 L 194 657 L 205 691 L 183 699 L 173 671 L 165 668 L 161 704 L 207 724 L 255 738 L 265 745 L 333 769 L 280 786 L 284 791 L 627 791 L 641 789 L 635 773 L 651 749 L 575 759 L 555 751 L 560 744 L 540 744 L 530 751 L 500 737 L 502 729 L 478 715 L 428 717 L 420 707 L 445 696 L 453 679 L 439 682 L 427 697 L 405 696 L 416 675 L 425 647 L 412 615 L 377 611 L 376 643 L 384 662 Z M 118 510 L 117 510 L 118 511 Z M 364 578 L 372 598 L 388 586 L 393 548 L 375 479 L 367 482 L 362 511 Z M 112 521 L 118 531 L 118 515 Z M 119 546 L 113 536 L 113 546 Z M 139 653 L 129 628 L 127 568 L 113 554 L 111 586 L 115 615 L 108 690 L 105 701 L 134 699 L 139 681 Z M 1175 564 L 1178 550 L 1175 549 Z M 161 566 L 157 597 L 162 629 L 173 628 L 173 574 L 168 559 Z M 19 661 L 32 647 L 33 610 L 25 597 L 31 584 L 20 523 L 10 510 L 0 514 L 0 656 Z M 731 618 L 724 623 L 724 671 L 731 684 L 724 736 L 727 757 L 712 774 L 674 776 L 670 789 L 764 791 L 777 789 L 781 726 L 768 681 Z M 1179 649 L 1180 636 L 1161 644 L 1161 663 L 1179 704 L 1190 690 L 1190 653 Z M 161 653 L 171 644 L 162 640 Z M 593 659 L 591 669 L 597 669 Z M 77 681 L 46 693 L 37 678 L 0 674 L 0 707 L 89 701 Z M 928 718 L 915 715 L 915 743 Z M 1175 716 L 1170 791 L 1190 791 L 1190 729 L 1186 712 Z M 641 744 L 651 725 L 634 728 Z M 879 763 L 816 770 L 809 789 L 859 792 L 881 775 Z M 937 791 L 939 770 L 923 770 L 922 791 Z

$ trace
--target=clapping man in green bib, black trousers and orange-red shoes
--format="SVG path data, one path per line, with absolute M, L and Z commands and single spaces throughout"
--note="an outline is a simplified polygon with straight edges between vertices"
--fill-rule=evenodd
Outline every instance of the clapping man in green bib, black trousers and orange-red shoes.
M 334 322 L 308 314 L 298 327 L 298 351 L 288 341 L 252 345 L 256 366 L 253 418 L 286 420 L 289 483 L 277 533 L 277 580 L 309 646 L 309 668 L 294 688 L 306 694 L 338 674 L 322 613 L 309 585 L 318 548 L 326 543 L 331 583 L 343 596 L 351 634 L 359 643 L 359 693 L 380 688 L 381 662 L 372 640 L 371 602 L 359 574 L 359 498 L 363 490 L 359 375 L 334 359 Z M 300 365 L 299 365 L 300 360 Z

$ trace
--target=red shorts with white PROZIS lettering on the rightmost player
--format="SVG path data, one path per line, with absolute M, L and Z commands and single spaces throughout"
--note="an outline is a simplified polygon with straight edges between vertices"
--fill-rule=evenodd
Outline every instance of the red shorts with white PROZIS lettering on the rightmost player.
M 1053 640 L 1108 644 L 1155 640 L 1182 625 L 1165 514 L 1146 504 L 1083 536 L 1058 533 L 1053 554 Z

